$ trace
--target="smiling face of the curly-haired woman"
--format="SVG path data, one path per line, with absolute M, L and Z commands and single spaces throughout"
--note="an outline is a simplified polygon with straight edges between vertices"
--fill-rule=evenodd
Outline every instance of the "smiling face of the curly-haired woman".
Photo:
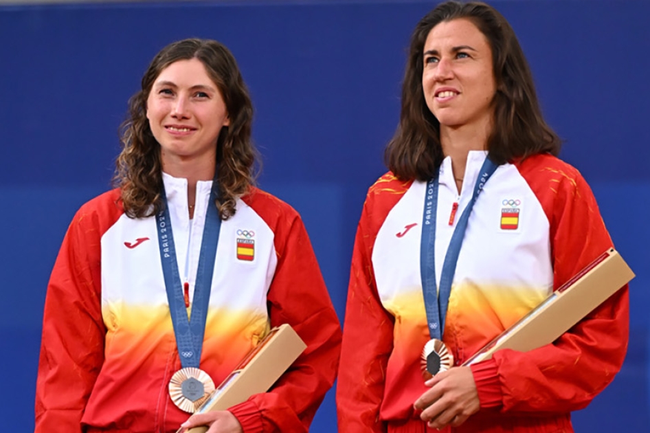
M 221 92 L 197 58 L 178 60 L 161 71 L 147 98 L 146 115 L 161 147 L 163 169 L 215 161 L 217 137 L 229 125 Z

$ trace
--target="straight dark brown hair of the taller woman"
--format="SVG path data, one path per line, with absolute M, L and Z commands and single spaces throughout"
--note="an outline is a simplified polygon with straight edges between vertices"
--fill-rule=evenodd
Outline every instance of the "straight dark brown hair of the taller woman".
M 423 51 L 429 32 L 443 21 L 468 19 L 486 37 L 492 50 L 497 91 L 488 151 L 497 164 L 538 153 L 557 155 L 559 137 L 544 122 L 533 75 L 508 21 L 485 3 L 440 3 L 421 19 L 411 35 L 402 86 L 399 126 L 385 149 L 385 163 L 400 179 L 434 177 L 444 155 L 440 122 L 429 111 L 422 88 Z

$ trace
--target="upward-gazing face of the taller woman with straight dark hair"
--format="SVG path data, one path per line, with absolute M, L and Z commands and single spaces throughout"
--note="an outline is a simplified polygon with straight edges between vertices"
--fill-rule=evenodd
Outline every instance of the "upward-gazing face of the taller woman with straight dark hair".
M 489 128 L 496 83 L 492 50 L 478 27 L 467 19 L 439 23 L 429 32 L 423 54 L 424 96 L 440 129 Z

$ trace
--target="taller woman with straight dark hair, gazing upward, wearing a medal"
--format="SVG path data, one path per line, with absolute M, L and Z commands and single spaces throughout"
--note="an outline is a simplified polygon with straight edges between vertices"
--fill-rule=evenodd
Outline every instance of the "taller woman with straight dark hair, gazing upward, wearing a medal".
M 447 1 L 421 19 L 357 230 L 339 431 L 572 432 L 614 379 L 627 285 L 552 344 L 464 364 L 612 247 L 559 146 L 499 12 Z

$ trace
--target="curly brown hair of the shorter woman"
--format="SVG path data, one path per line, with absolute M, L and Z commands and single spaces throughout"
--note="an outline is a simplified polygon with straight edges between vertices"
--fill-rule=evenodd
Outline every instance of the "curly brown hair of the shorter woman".
M 122 151 L 115 163 L 113 182 L 121 190 L 124 212 L 131 218 L 157 214 L 161 197 L 160 145 L 146 117 L 146 102 L 161 71 L 178 60 L 197 58 L 221 91 L 230 120 L 217 139 L 216 167 L 221 219 L 236 212 L 236 200 L 254 184 L 259 158 L 251 141 L 253 106 L 236 60 L 221 43 L 190 38 L 164 47 L 142 77 L 142 89 L 128 100 L 128 119 L 120 126 Z

